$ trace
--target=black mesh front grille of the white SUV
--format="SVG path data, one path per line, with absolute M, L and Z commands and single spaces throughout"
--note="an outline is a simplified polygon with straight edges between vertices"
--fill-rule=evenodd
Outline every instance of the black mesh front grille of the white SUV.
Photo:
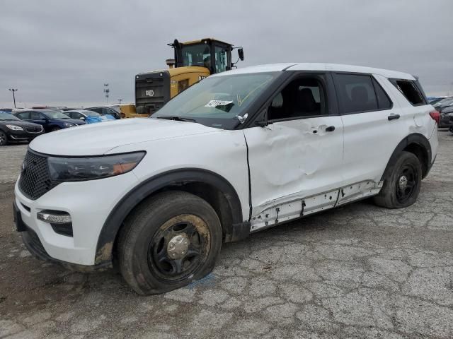
M 21 192 L 28 198 L 36 200 L 55 186 L 57 186 L 57 183 L 50 180 L 47 157 L 28 150 L 25 160 L 23 160 L 21 179 L 19 180 Z

